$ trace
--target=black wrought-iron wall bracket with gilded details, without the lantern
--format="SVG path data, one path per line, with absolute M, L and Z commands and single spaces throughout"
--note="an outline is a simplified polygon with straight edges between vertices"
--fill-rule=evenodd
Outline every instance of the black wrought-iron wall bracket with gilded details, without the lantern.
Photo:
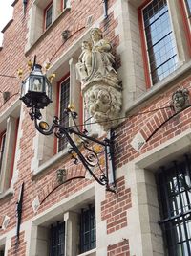
M 71 154 L 74 164 L 81 162 L 89 174 L 107 191 L 116 193 L 116 179 L 114 170 L 114 133 L 109 138 L 98 140 L 89 136 L 87 130 L 80 131 L 75 119 L 77 113 L 71 109 L 65 109 L 66 115 L 70 115 L 74 121 L 73 128 L 65 128 L 59 119 L 54 116 L 51 127 L 48 123 L 39 120 L 42 118 L 40 110 L 32 108 L 30 116 L 35 128 L 43 135 L 53 134 L 57 138 L 66 138 L 69 143 L 68 152 Z M 77 138 L 76 141 L 72 135 Z

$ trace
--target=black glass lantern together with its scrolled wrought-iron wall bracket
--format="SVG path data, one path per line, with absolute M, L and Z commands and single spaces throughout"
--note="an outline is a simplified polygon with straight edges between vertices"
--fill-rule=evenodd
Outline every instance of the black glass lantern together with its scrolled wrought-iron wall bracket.
M 87 131 L 80 131 L 75 123 L 77 113 L 71 107 L 64 110 L 66 116 L 70 116 L 74 121 L 73 128 L 66 128 L 58 117 L 53 117 L 53 124 L 49 126 L 47 122 L 39 121 L 42 118 L 40 110 L 52 103 L 52 84 L 41 71 L 41 66 L 35 63 L 32 65 L 32 72 L 29 77 L 22 82 L 21 98 L 27 107 L 31 108 L 30 116 L 34 120 L 35 128 L 44 135 L 55 134 L 57 138 L 65 137 L 70 144 L 69 153 L 74 164 L 80 161 L 86 170 L 96 181 L 106 187 L 107 191 L 116 192 L 114 164 L 113 164 L 113 139 L 98 140 L 88 135 Z M 75 134 L 80 141 L 80 145 L 74 142 L 72 134 Z M 82 148 L 83 149 L 82 149 Z M 83 150 L 83 153 L 81 151 Z M 104 167 L 102 160 L 104 158 Z M 96 170 L 99 170 L 98 175 Z

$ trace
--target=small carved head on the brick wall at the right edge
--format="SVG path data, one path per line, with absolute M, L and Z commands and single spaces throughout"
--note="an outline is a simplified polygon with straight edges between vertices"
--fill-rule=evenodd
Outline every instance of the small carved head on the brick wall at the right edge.
M 178 113 L 183 110 L 186 106 L 190 105 L 189 103 L 189 91 L 187 89 L 178 89 L 172 95 L 172 105 L 175 109 L 175 112 Z

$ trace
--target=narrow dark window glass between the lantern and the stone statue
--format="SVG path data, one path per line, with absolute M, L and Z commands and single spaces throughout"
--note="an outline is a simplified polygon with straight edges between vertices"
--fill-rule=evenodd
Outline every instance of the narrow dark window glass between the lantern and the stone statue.
M 70 101 L 70 79 L 63 81 L 60 84 L 60 122 L 67 128 L 69 126 L 69 116 L 65 113 Z M 65 137 L 59 139 L 58 151 L 62 151 L 67 146 L 67 139 Z

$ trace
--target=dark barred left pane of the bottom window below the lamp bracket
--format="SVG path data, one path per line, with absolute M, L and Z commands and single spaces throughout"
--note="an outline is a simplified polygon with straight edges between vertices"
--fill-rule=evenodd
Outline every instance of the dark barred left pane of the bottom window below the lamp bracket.
M 57 222 L 51 226 L 50 256 L 64 256 L 65 251 L 65 223 Z

